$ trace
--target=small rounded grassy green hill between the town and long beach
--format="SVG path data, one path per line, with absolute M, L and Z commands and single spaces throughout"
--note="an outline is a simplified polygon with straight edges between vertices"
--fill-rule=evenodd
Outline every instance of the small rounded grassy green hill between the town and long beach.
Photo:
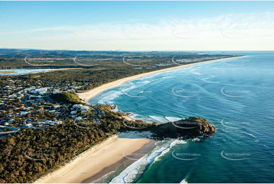
M 50 96 L 57 102 L 63 102 L 66 104 L 84 104 L 81 99 L 74 93 L 56 93 Z

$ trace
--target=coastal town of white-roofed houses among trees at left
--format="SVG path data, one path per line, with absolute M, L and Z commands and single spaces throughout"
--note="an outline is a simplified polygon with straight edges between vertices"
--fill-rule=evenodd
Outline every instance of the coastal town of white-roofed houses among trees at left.
M 100 123 L 103 112 L 93 105 L 57 102 L 51 96 L 58 93 L 75 93 L 87 85 L 68 82 L 37 80 L 35 84 L 23 80 L 7 80 L 0 89 L 0 139 L 15 135 L 18 130 L 47 127 L 66 122 Z

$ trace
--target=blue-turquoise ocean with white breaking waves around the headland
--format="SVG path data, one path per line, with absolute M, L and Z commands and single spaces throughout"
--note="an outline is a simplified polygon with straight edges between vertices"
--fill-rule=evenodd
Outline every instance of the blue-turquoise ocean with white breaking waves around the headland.
M 274 183 L 274 52 L 225 54 L 248 57 L 148 75 L 89 101 L 159 123 L 199 116 L 217 128 L 198 142 L 158 142 L 109 182 Z

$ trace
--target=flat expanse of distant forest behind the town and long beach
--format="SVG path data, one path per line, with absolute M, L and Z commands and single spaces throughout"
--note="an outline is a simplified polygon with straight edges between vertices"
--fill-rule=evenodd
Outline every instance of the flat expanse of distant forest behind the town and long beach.
M 1 49 L 0 49 L 1 50 Z M 127 55 L 125 55 L 127 54 Z M 177 54 L 177 55 L 176 55 Z M 39 72 L 37 74 L 26 74 L 22 76 L 0 76 L 1 80 L 8 79 L 21 79 L 26 81 L 35 81 L 37 79 L 43 81 L 67 81 L 67 82 L 81 82 L 88 85 L 83 86 L 76 92 L 84 92 L 92 88 L 96 88 L 102 84 L 112 82 L 125 77 L 133 75 L 155 71 L 163 68 L 169 68 L 178 66 L 172 62 L 172 58 L 176 55 L 177 59 L 197 59 L 205 58 L 216 55 L 208 54 L 195 54 L 186 52 L 142 52 L 134 53 L 130 52 L 116 52 L 115 55 L 72 55 L 72 54 L 43 54 L 38 53 L 36 55 L 29 55 L 28 58 L 40 58 L 34 60 L 28 60 L 28 63 L 38 66 L 29 65 L 24 61 L 26 55 L 1 55 L 0 67 L 4 69 L 9 68 L 57 68 L 59 70 L 51 72 Z M 126 64 L 123 58 L 126 56 L 126 62 L 132 65 Z M 74 57 L 77 57 L 77 61 L 74 61 Z M 231 55 L 223 55 L 222 57 L 232 57 Z M 46 58 L 46 61 L 41 59 Z M 48 59 L 50 58 L 50 59 Z M 38 60 L 38 61 L 37 61 Z M 197 62 L 197 61 L 196 61 Z M 79 64 L 80 63 L 80 64 Z M 182 63 L 189 64 L 195 63 L 195 61 Z M 82 66 L 84 65 L 84 66 Z M 137 66 L 148 66 L 142 69 L 138 69 Z M 46 86 L 45 86 L 46 87 Z

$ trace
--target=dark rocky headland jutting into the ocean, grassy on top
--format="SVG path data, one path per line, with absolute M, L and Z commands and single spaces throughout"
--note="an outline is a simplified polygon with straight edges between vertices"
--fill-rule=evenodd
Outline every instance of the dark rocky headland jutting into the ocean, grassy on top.
M 157 125 L 152 129 L 154 136 L 159 138 L 195 138 L 203 136 L 209 138 L 216 128 L 207 119 L 190 117 L 179 121 Z

